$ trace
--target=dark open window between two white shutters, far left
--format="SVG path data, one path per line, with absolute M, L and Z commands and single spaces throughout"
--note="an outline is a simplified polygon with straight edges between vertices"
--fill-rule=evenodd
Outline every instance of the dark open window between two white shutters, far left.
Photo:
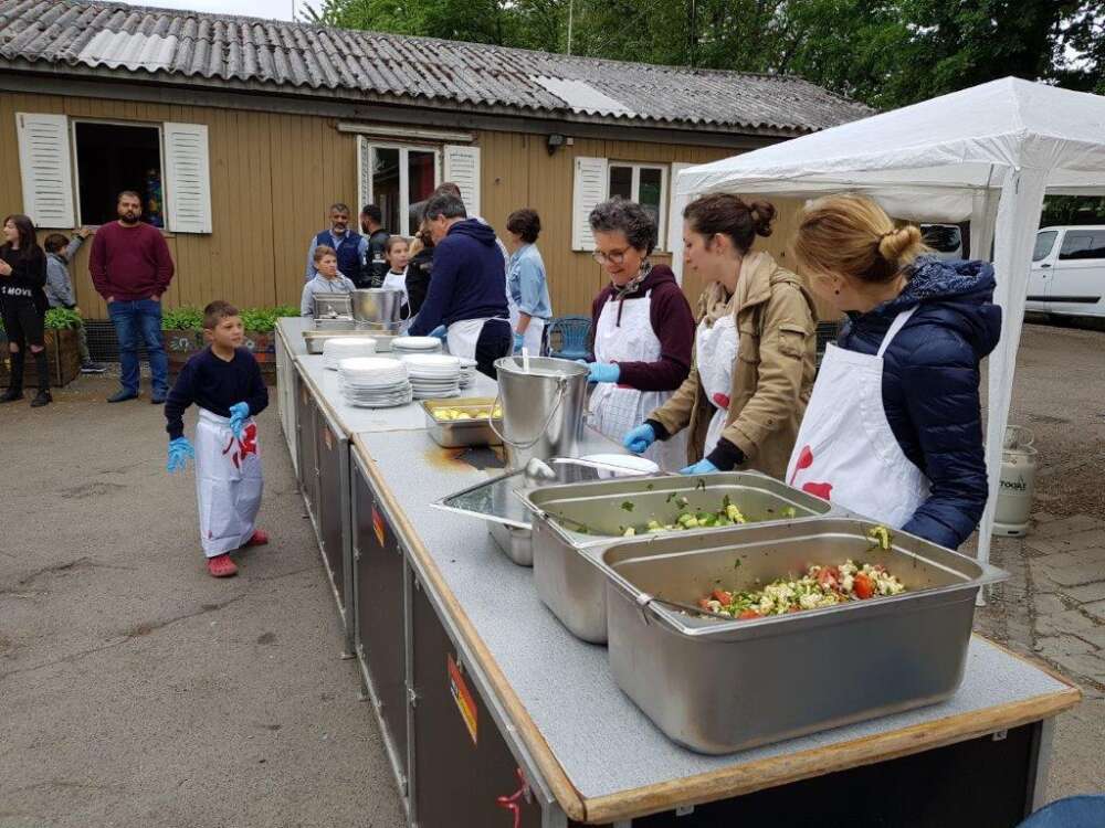
M 114 221 L 118 194 L 133 190 L 141 197 L 141 220 L 166 225 L 160 127 L 78 120 L 73 144 L 80 224 Z

